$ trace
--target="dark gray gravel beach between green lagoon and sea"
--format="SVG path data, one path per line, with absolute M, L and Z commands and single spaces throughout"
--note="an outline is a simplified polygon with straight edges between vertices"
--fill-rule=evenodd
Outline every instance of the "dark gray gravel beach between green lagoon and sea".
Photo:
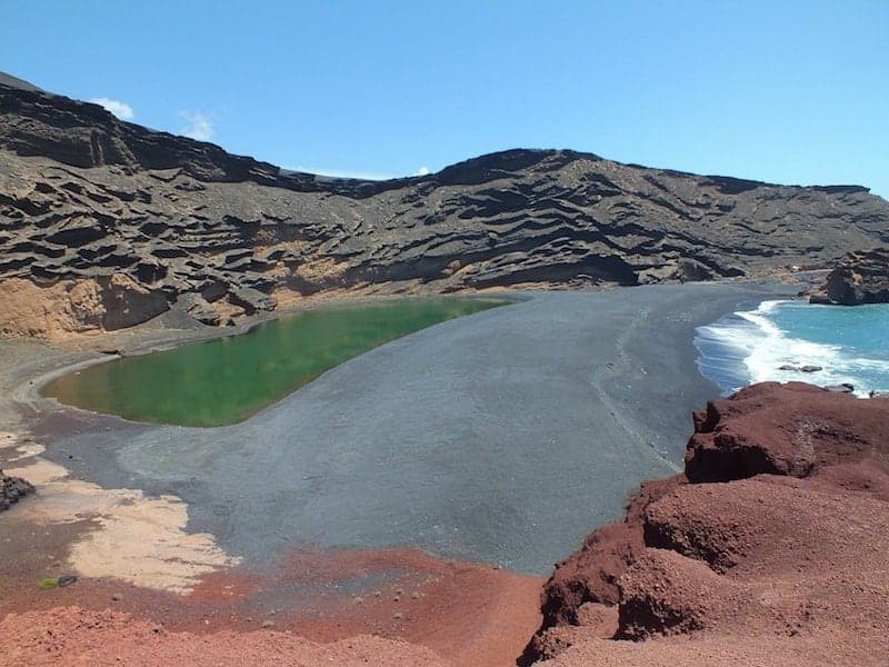
M 641 480 L 680 469 L 690 411 L 717 394 L 695 326 L 790 291 L 533 293 L 377 348 L 239 425 L 47 401 L 37 426 L 76 475 L 174 494 L 233 554 L 417 546 L 546 574 Z

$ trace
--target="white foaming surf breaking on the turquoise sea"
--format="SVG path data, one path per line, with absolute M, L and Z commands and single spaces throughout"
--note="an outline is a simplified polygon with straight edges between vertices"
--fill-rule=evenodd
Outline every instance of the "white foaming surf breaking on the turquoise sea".
M 699 327 L 700 341 L 717 344 L 722 357 L 700 360 L 701 370 L 706 374 L 707 368 L 713 369 L 723 380 L 746 376 L 743 384 L 799 380 L 830 386 L 848 382 L 859 396 L 867 396 L 872 389 L 889 389 L 875 379 L 877 376 L 889 382 L 889 360 L 856 357 L 841 346 L 793 338 L 782 330 L 769 316 L 788 302 L 763 301 L 755 310 L 737 311 L 732 318 Z M 781 370 L 781 366 L 818 366 L 821 370 L 800 372 Z M 735 391 L 741 386 L 729 389 Z

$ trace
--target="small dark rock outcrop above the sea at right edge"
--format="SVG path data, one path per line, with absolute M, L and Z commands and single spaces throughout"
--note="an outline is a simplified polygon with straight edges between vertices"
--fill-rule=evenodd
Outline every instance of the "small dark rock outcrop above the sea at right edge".
M 812 303 L 889 303 L 889 248 L 850 252 L 828 273 Z

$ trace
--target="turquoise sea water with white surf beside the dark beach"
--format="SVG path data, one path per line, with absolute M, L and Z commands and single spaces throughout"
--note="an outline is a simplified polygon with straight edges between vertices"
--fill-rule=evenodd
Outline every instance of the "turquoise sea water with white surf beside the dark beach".
M 701 374 L 723 394 L 766 380 L 849 382 L 859 396 L 889 391 L 889 303 L 763 301 L 698 327 L 695 345 Z M 781 370 L 786 365 L 821 370 Z

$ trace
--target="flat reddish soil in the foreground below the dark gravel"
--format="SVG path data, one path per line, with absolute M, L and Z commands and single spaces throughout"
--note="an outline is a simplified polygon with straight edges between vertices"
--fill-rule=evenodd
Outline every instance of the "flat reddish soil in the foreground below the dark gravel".
M 14 536 L 0 568 L 0 665 L 513 665 L 540 625 L 542 580 L 414 549 L 297 550 L 203 577 L 186 597 L 110 579 L 38 590 L 38 552 L 76 531 Z M 20 545 L 32 542 L 28 550 Z M 6 559 L 0 559 L 0 561 Z M 49 568 L 49 569 L 48 569 Z M 113 609 L 113 613 L 111 611 Z M 157 631 L 156 631 L 157 630 Z M 113 639 L 113 640 L 112 640 Z M 318 644 L 320 643 L 320 644 Z M 207 646 L 214 647 L 208 650 Z M 228 660 L 228 661 L 227 661 Z

